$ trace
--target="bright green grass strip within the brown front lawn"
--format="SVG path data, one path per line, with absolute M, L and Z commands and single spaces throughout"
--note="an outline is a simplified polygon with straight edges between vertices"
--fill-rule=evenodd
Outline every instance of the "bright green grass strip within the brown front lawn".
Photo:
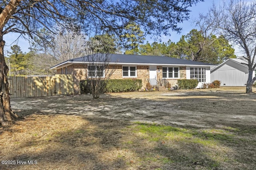
M 134 129 L 134 133 L 142 133 L 143 136 L 149 141 L 185 141 L 189 140 L 193 143 L 201 143 L 206 146 L 211 143 L 234 142 L 235 136 L 227 130 L 222 129 L 205 129 L 205 130 L 195 130 L 195 129 L 185 129 L 177 128 L 166 125 L 156 125 L 147 123 L 136 123 L 137 126 Z M 232 129 L 233 130 L 233 129 Z

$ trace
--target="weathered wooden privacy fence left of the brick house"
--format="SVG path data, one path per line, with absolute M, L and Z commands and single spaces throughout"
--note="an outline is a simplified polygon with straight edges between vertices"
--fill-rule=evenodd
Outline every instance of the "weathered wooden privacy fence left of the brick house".
M 68 95 L 74 93 L 72 75 L 10 77 L 12 98 Z

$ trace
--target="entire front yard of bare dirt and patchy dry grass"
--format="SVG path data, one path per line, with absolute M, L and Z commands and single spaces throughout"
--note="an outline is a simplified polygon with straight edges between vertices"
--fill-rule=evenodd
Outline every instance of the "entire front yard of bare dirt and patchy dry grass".
M 12 98 L 20 120 L 0 127 L 0 159 L 16 164 L 0 169 L 253 169 L 253 91 Z

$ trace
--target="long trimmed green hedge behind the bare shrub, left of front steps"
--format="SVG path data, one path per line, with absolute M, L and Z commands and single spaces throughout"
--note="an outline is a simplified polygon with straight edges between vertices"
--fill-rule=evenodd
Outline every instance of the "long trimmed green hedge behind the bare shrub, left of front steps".
M 90 93 L 89 84 L 87 81 L 80 81 L 80 90 L 82 94 Z M 104 80 L 102 80 L 104 81 Z M 138 79 L 111 79 L 106 80 L 105 92 L 133 92 L 138 91 L 142 87 L 142 80 Z

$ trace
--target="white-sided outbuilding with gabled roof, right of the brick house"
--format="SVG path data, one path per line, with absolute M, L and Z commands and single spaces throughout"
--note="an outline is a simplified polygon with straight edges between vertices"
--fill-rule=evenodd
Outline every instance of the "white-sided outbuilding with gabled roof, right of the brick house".
M 245 63 L 243 59 L 228 59 L 211 70 L 211 80 L 220 80 L 220 86 L 246 86 L 249 71 Z

